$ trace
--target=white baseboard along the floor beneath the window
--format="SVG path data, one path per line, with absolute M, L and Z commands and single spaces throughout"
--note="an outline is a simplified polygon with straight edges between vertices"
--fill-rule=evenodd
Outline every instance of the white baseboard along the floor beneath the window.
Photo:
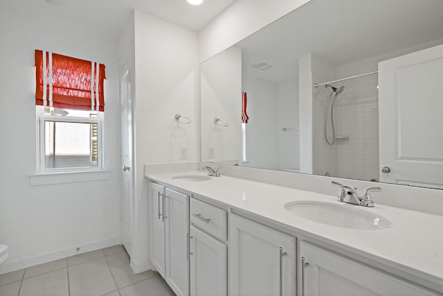
M 87 245 L 80 245 L 81 247 L 80 252 L 77 252 L 75 250 L 75 248 L 78 247 L 78 245 L 75 245 L 64 250 L 58 250 L 46 254 L 39 254 L 37 256 L 31 256 L 23 260 L 17 260 L 12 262 L 6 261 L 6 263 L 0 265 L 0 275 L 6 272 L 19 270 L 21 268 L 28 268 L 30 266 L 90 252 L 93 250 L 102 249 L 103 247 L 111 247 L 113 245 L 119 245 L 119 244 L 121 244 L 121 238 L 120 236 L 117 236 L 115 238 L 109 238 L 105 241 L 96 241 L 93 243 L 88 243 Z

